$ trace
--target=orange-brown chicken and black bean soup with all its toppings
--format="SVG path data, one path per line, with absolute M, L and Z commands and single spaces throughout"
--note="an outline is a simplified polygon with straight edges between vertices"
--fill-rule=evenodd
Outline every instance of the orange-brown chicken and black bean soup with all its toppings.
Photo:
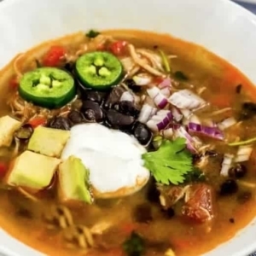
M 0 82 L 0 224 L 27 245 L 199 255 L 255 216 L 255 89 L 206 49 L 91 30 Z

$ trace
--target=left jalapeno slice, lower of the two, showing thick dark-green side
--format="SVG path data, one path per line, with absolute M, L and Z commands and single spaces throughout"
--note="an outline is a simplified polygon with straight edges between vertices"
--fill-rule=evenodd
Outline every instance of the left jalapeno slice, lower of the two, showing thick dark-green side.
M 20 96 L 44 108 L 61 108 L 76 95 L 72 75 L 55 67 L 39 67 L 20 79 Z

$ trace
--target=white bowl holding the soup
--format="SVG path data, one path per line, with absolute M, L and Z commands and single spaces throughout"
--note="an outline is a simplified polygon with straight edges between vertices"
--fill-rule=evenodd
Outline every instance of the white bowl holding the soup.
M 207 47 L 256 83 L 256 16 L 227 0 L 5 0 L 0 3 L 0 67 L 35 44 L 90 28 L 167 32 Z M 253 252 L 255 223 L 206 255 Z M 3 230 L 0 243 L 0 252 L 11 256 L 40 255 Z

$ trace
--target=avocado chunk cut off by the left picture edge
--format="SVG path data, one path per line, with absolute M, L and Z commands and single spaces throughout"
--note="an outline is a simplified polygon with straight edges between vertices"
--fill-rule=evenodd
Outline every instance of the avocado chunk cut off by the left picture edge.
M 0 118 L 0 147 L 9 147 L 13 141 L 16 130 L 20 128 L 21 122 L 9 117 Z

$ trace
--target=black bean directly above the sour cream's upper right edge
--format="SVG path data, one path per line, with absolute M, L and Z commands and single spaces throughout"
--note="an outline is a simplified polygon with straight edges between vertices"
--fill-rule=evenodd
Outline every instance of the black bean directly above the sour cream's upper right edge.
M 131 126 L 135 119 L 130 115 L 119 113 L 114 109 L 109 109 L 107 112 L 108 124 L 115 129 L 125 128 Z

